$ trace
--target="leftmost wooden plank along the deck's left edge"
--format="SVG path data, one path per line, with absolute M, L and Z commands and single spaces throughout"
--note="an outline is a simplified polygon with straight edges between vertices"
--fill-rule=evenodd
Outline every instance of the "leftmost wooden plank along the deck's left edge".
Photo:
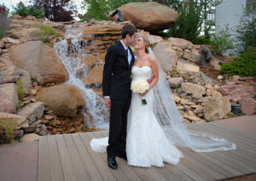
M 38 181 L 51 180 L 47 136 L 40 136 L 38 144 Z

